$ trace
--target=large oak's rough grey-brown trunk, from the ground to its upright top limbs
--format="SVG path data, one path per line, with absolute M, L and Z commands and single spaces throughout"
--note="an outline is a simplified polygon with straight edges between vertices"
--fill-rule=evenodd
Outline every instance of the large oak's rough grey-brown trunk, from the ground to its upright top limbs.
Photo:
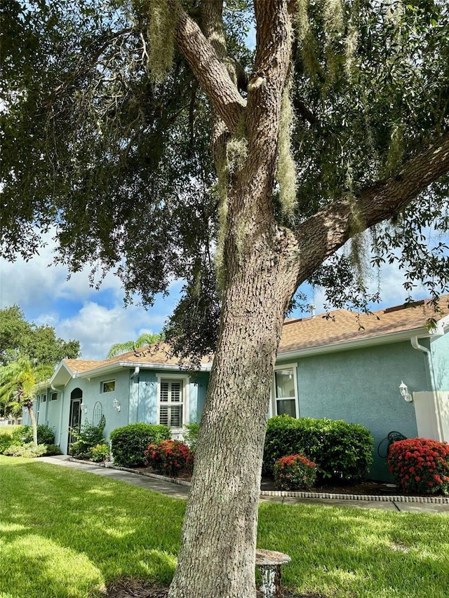
M 220 13 L 220 3 L 204 3 L 203 27 L 222 58 Z M 222 84 L 232 88 L 233 77 L 230 72 L 227 79 L 211 62 L 220 83 L 217 90 L 210 88 L 216 97 L 211 141 L 218 167 L 225 160 L 220 156 L 226 150 L 222 142 L 235 132 L 236 123 L 246 148 L 239 163 L 229 168 L 223 198 L 220 334 L 170 598 L 255 597 L 257 504 L 269 388 L 284 313 L 297 286 L 297 241 L 277 226 L 272 200 L 291 49 L 290 17 L 287 3 L 274 0 L 255 2 L 255 13 L 257 35 L 267 39 L 262 50 L 257 49 L 255 71 L 264 72 L 269 85 L 248 94 L 247 109 L 227 102 L 231 112 L 220 110 Z M 189 37 L 180 29 L 177 36 L 196 72 Z

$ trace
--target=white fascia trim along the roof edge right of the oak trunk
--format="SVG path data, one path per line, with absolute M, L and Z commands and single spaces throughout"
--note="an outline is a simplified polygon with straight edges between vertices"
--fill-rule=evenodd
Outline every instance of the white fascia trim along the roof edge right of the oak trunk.
M 320 355 L 324 353 L 336 353 L 337 351 L 351 351 L 353 349 L 364 348 L 368 346 L 387 345 L 390 343 L 399 343 L 401 341 L 410 341 L 412 337 L 428 339 L 441 336 L 440 332 L 431 334 L 427 328 L 415 328 L 405 332 L 393 332 L 392 334 L 382 334 L 380 337 L 370 337 L 368 339 L 359 339 L 356 341 L 346 341 L 343 343 L 334 343 L 331 345 L 320 345 L 305 349 L 292 349 L 277 354 L 277 359 L 289 359 L 295 357 L 308 357 L 309 355 Z

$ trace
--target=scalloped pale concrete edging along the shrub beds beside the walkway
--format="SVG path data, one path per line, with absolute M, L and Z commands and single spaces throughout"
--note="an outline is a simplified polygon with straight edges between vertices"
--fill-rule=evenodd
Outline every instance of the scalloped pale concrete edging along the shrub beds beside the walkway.
M 93 461 L 83 461 L 68 457 L 67 461 L 74 461 L 75 463 L 86 463 L 86 465 L 96 467 L 107 467 L 108 469 L 117 469 L 120 471 L 127 471 L 128 473 L 135 473 L 144 475 L 145 477 L 154 477 L 155 480 L 162 480 L 163 482 L 170 482 L 178 486 L 190 486 L 187 480 L 180 480 L 177 477 L 168 477 L 168 475 L 160 475 L 158 473 L 149 473 L 146 471 L 139 471 L 128 467 L 114 466 L 112 463 L 95 463 Z M 449 505 L 449 496 L 402 496 L 387 494 L 382 496 L 370 494 L 335 494 L 333 492 L 306 492 L 306 491 L 286 491 L 286 490 L 261 490 L 260 496 L 286 496 L 288 498 L 328 498 L 338 501 L 375 501 L 381 503 L 431 503 L 434 505 Z

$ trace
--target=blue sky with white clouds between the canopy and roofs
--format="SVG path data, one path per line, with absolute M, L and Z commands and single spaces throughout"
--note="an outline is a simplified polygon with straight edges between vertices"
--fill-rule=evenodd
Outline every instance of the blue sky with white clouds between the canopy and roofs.
M 105 359 L 114 343 L 136 339 L 142 332 L 160 332 L 180 297 L 182 281 L 174 281 L 168 297 L 156 297 L 154 306 L 147 311 L 138 305 L 125 308 L 120 281 L 112 273 L 97 291 L 89 285 L 88 269 L 67 280 L 65 266 L 51 265 L 52 261 L 51 236 L 39 256 L 28 262 L 0 260 L 0 308 L 18 304 L 27 320 L 55 327 L 58 337 L 65 340 L 78 339 L 84 359 Z M 407 297 L 402 283 L 396 267 L 387 266 L 382 272 L 382 303 L 373 309 L 402 304 Z M 376 277 L 370 286 L 373 292 L 377 290 Z M 304 290 L 310 303 L 316 305 L 316 313 L 323 313 L 321 290 Z M 427 295 L 417 288 L 413 297 L 421 299 Z M 302 315 L 297 311 L 289 317 Z

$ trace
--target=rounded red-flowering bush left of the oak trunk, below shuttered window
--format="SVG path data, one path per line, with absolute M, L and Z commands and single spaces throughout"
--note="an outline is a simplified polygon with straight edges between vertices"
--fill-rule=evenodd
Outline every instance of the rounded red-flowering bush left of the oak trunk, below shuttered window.
M 192 471 L 194 464 L 192 451 L 180 440 L 149 444 L 144 454 L 147 465 L 164 475 L 177 475 L 182 470 Z

